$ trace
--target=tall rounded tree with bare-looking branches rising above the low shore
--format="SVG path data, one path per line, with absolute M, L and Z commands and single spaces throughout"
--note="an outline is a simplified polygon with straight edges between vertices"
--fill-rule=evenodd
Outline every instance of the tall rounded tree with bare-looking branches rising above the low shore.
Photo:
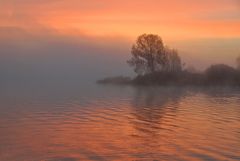
M 165 47 L 158 35 L 140 35 L 132 46 L 131 54 L 132 58 L 127 63 L 134 67 L 138 74 L 182 69 L 177 51 Z

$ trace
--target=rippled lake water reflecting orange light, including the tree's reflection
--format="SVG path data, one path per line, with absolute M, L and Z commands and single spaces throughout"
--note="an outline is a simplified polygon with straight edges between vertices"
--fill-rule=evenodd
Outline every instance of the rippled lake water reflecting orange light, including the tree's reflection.
M 7 88 L 1 161 L 240 160 L 240 89 Z

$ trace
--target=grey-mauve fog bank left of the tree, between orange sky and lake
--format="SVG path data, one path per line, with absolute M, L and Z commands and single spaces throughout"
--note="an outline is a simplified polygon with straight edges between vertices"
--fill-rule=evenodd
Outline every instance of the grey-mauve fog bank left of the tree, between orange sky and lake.
M 131 75 L 129 43 L 111 38 L 34 35 L 11 28 L 0 42 L 1 86 L 70 85 Z

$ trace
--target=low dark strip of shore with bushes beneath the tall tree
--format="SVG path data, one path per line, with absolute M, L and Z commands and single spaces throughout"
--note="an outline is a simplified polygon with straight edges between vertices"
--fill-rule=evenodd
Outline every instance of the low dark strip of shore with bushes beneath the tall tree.
M 225 65 L 217 65 L 205 72 L 155 72 L 135 78 L 117 76 L 97 81 L 98 84 L 140 86 L 240 86 L 240 71 Z

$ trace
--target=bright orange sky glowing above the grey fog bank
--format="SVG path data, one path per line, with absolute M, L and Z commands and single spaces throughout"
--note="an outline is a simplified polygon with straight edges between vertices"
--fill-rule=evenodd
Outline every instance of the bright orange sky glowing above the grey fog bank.
M 1 0 L 0 27 L 166 39 L 238 38 L 238 0 Z M 45 30 L 44 30 L 45 31 Z

